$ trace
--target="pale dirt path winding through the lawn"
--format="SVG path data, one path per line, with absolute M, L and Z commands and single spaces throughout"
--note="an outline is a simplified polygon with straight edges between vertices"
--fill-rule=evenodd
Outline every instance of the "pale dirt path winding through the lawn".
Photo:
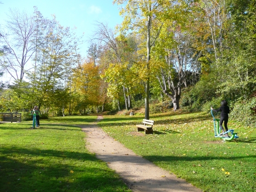
M 103 117 L 98 116 L 97 121 Z M 109 137 L 97 122 L 81 127 L 86 132 L 86 146 L 96 157 L 108 163 L 132 191 L 201 191 L 174 174 L 164 171 Z

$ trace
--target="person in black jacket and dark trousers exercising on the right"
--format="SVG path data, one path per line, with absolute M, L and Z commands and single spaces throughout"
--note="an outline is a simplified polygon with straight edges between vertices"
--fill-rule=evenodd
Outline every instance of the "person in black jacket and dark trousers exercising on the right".
M 211 107 L 211 109 L 215 112 L 221 111 L 221 113 L 220 113 L 220 128 L 222 130 L 222 133 L 220 133 L 220 135 L 222 135 L 224 133 L 224 128 L 222 127 L 223 122 L 224 122 L 224 127 L 225 127 L 226 132 L 229 131 L 229 129 L 227 128 L 227 122 L 229 121 L 230 110 L 229 110 L 229 106 L 227 106 L 227 101 L 222 100 L 221 106 L 219 109 L 213 109 L 212 107 Z M 228 134 L 225 134 L 224 136 L 229 137 Z

